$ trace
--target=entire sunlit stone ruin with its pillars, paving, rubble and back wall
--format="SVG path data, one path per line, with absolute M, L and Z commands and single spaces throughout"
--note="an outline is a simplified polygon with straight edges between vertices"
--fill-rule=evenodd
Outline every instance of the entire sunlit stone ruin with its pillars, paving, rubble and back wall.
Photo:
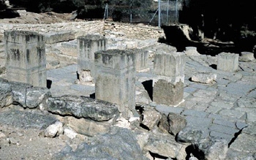
M 100 20 L 0 28 L 0 159 L 41 139 L 56 150 L 29 158 L 256 158 L 251 54 L 177 51 L 161 28 Z

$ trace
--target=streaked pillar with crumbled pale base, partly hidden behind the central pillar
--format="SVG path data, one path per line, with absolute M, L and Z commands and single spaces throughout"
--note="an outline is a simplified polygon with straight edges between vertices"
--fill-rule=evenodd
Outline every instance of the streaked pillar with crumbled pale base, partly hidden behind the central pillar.
M 94 53 L 106 50 L 107 39 L 98 34 L 78 37 L 78 75 L 80 82 L 94 81 Z

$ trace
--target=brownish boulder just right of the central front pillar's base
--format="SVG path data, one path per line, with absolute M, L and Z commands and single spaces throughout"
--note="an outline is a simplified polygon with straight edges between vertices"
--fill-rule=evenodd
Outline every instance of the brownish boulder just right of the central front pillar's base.
M 161 114 L 151 107 L 143 108 L 143 113 L 140 115 L 140 121 L 143 126 L 151 130 L 157 125 L 161 118 Z

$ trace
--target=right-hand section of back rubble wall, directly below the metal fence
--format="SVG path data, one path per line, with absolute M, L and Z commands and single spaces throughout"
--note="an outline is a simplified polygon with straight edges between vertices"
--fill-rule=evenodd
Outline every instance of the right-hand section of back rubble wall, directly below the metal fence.
M 159 39 L 165 37 L 164 30 L 155 26 L 133 25 L 129 23 L 114 23 L 105 21 L 104 34 L 116 37 L 126 37 L 131 39 Z

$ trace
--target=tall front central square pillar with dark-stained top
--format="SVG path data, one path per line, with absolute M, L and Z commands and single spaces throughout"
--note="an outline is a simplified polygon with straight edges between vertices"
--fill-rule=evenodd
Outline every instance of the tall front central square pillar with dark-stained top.
M 95 97 L 118 105 L 124 118 L 135 113 L 135 64 L 132 50 L 95 53 Z

